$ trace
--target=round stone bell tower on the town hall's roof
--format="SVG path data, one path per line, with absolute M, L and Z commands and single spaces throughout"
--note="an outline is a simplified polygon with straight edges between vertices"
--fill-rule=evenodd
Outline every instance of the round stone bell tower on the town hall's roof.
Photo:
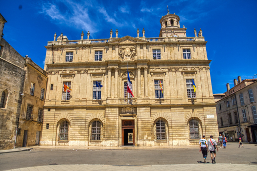
M 168 13 L 165 16 L 162 16 L 160 23 L 161 23 L 161 30 L 159 37 L 187 37 L 187 28 L 183 26 L 180 28 L 180 18 L 175 13 L 169 14 L 169 10 L 167 9 Z

